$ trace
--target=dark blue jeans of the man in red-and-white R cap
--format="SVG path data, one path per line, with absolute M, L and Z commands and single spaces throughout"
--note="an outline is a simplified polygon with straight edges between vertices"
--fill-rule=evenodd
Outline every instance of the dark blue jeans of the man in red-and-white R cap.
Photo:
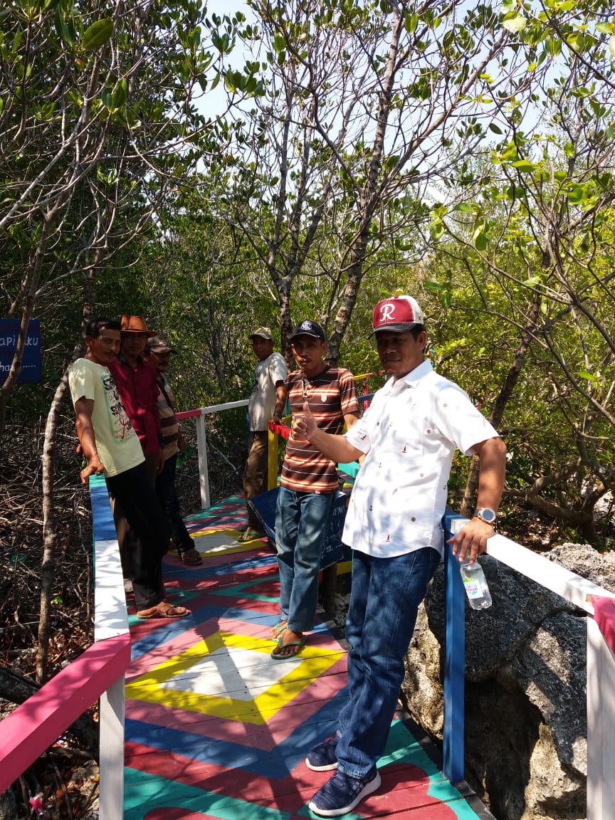
M 418 606 L 439 563 L 431 547 L 395 558 L 353 552 L 348 703 L 337 730 L 339 768 L 352 777 L 364 777 L 385 750 Z

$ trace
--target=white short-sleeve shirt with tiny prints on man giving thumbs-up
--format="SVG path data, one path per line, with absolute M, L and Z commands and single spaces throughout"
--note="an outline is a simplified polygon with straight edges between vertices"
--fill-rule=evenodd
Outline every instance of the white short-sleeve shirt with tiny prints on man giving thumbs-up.
M 348 505 L 342 540 L 359 552 L 393 558 L 431 546 L 444 550 L 453 453 L 498 435 L 452 381 L 429 361 L 378 390 L 344 434 L 367 453 Z

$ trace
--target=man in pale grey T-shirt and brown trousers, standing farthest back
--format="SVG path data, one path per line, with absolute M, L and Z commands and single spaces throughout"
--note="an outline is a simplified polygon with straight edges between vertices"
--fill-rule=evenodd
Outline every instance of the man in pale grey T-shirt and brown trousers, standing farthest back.
M 244 467 L 248 525 L 242 535 L 239 535 L 238 540 L 242 543 L 263 535 L 261 524 L 248 500 L 267 489 L 269 421 L 280 421 L 286 404 L 286 362 L 280 353 L 274 353 L 271 330 L 268 327 L 257 327 L 250 334 L 250 339 L 258 362 L 248 404 L 250 447 Z

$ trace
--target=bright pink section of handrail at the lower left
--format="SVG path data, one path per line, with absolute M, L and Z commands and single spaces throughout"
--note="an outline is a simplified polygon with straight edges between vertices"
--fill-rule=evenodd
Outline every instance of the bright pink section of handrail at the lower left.
M 130 663 L 130 635 L 100 640 L 2 721 L 0 793 L 106 691 Z

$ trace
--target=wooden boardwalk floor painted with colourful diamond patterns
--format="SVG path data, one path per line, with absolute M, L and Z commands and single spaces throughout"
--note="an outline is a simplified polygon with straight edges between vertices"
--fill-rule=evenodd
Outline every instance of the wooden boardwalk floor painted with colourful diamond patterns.
M 298 658 L 270 658 L 276 561 L 265 541 L 236 543 L 244 522 L 238 498 L 187 520 L 203 565 L 169 555 L 164 569 L 169 599 L 191 617 L 130 617 L 125 820 L 316 816 L 307 802 L 330 772 L 303 761 L 334 731 L 345 650 L 321 622 Z M 471 809 L 398 717 L 379 767 L 382 786 L 347 818 L 490 817 Z

